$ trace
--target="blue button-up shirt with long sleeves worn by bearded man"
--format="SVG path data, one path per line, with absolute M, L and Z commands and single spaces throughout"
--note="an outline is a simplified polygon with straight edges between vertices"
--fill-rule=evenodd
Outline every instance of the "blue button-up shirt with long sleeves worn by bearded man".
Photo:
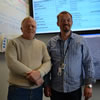
M 94 68 L 89 48 L 80 35 L 71 33 L 67 40 L 60 35 L 51 38 L 48 42 L 48 51 L 51 56 L 51 87 L 58 92 L 72 92 L 85 84 L 94 81 Z M 64 58 L 64 69 L 59 76 L 58 69 Z

